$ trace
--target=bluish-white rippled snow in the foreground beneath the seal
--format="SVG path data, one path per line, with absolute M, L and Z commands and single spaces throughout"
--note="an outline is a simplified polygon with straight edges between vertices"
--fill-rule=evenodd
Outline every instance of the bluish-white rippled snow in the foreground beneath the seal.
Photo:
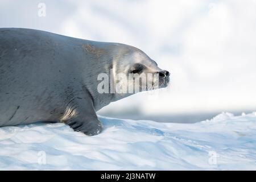
M 63 123 L 0 128 L 0 169 L 256 169 L 256 113 L 198 123 L 100 117 L 88 137 Z

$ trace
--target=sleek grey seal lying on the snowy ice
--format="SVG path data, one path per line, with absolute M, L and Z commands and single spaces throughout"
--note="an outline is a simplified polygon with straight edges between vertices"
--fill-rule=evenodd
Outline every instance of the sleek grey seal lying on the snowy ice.
M 119 73 L 127 77 L 157 73 L 158 79 L 151 79 L 153 86 L 146 90 L 156 84 L 166 87 L 170 75 L 140 49 L 125 44 L 0 28 L 0 126 L 64 122 L 86 135 L 99 134 L 102 125 L 96 111 L 133 94 L 99 92 L 102 73 L 111 78 L 110 89 L 112 83 L 129 85 L 118 80 Z

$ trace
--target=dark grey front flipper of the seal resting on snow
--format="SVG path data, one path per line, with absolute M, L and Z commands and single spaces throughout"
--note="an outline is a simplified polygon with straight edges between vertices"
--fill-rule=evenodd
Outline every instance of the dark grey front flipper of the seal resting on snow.
M 77 97 L 71 100 L 61 122 L 89 136 L 100 134 L 102 131 L 93 102 L 88 98 Z

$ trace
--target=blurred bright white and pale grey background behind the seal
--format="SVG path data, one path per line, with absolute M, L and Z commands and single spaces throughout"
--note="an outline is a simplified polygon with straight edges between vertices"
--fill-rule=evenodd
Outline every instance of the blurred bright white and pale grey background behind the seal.
M 40 3 L 46 16 L 39 15 Z M 100 113 L 256 108 L 255 0 L 0 0 L 0 27 L 129 44 L 171 73 L 170 87 L 113 102 Z

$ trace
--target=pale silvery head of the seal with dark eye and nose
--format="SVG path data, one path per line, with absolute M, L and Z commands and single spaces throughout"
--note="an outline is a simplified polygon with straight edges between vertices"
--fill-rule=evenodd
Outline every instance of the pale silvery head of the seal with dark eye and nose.
M 160 69 L 146 53 L 127 45 L 119 46 L 118 51 L 113 61 L 113 75 L 115 84 L 127 88 L 122 91 L 136 93 L 168 86 L 170 73 Z

